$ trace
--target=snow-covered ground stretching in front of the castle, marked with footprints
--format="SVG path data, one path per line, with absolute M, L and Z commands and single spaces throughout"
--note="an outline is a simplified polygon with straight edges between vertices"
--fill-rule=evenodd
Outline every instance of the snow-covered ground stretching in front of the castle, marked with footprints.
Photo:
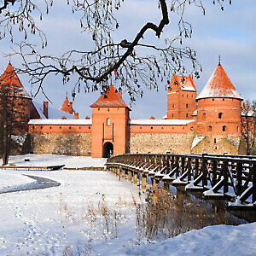
M 29 162 L 24 159 L 29 158 Z M 12 157 L 17 166 L 103 166 L 104 160 L 59 155 Z M 256 223 L 210 226 L 135 246 L 137 187 L 102 171 L 0 171 L 0 191 L 45 177 L 59 187 L 0 194 L 0 255 L 255 255 Z M 101 205 L 99 206 L 99 201 Z M 105 203 L 104 203 L 105 202 Z M 92 207 L 92 205 L 94 207 Z M 107 206 L 108 215 L 97 211 Z M 89 211 L 90 210 L 90 211 Z M 90 212 L 90 214 L 88 214 Z M 115 222 L 108 216 L 115 212 Z M 108 225 L 108 232 L 106 229 Z M 83 255 L 83 254 L 82 254 Z

